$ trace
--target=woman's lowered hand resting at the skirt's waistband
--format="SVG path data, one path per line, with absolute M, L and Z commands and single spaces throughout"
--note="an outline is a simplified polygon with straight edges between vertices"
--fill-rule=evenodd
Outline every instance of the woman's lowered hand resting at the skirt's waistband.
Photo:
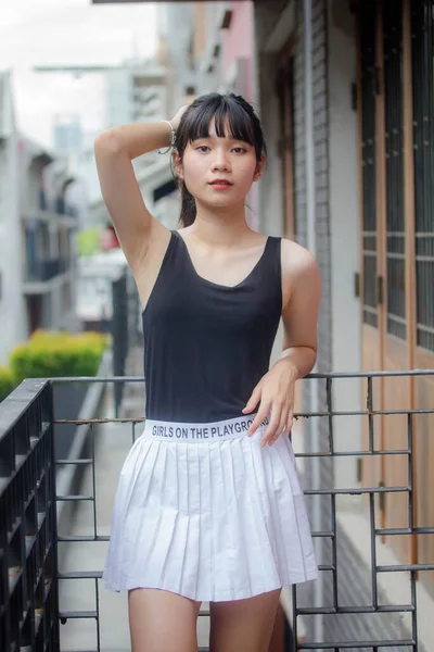
M 259 401 L 260 404 L 247 436 L 251 437 L 271 413 L 260 446 L 272 446 L 280 435 L 290 434 L 294 418 L 294 389 L 297 378 L 297 368 L 290 360 L 278 360 L 253 390 L 242 412 L 248 414 Z

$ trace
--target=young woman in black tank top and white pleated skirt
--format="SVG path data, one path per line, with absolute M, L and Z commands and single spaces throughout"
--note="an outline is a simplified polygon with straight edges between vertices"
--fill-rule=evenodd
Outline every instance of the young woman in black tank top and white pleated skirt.
M 173 148 L 179 230 L 148 211 L 131 160 Z M 102 195 L 143 305 L 146 421 L 117 487 L 106 587 L 128 590 L 133 652 L 266 652 L 283 586 L 317 565 L 289 432 L 314 366 L 320 277 L 290 240 L 253 231 L 258 117 L 212 93 L 94 143 Z M 282 317 L 284 350 L 269 368 Z

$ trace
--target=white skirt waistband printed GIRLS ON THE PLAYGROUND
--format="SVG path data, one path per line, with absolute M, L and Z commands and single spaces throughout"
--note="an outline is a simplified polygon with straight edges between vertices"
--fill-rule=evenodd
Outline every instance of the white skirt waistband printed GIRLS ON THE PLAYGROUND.
M 208 424 L 187 424 L 176 422 L 153 421 L 146 418 L 142 437 L 163 439 L 165 441 L 224 441 L 243 437 L 253 424 L 256 414 L 248 414 Z M 266 417 L 258 427 L 261 430 L 269 423 Z

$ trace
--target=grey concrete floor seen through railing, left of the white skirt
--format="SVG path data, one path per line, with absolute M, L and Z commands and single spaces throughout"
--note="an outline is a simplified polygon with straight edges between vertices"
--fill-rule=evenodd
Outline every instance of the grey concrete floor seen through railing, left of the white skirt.
M 101 416 L 113 417 L 111 392 L 103 406 Z M 131 397 L 130 397 L 131 399 Z M 127 397 L 128 402 L 128 397 Z M 135 402 L 135 401 L 133 401 Z M 129 408 L 131 408 L 131 401 Z M 136 415 L 140 410 L 136 411 Z M 137 434 L 140 432 L 140 424 Z M 112 506 L 122 464 L 132 443 L 130 424 L 108 424 L 94 430 L 95 438 L 95 510 L 97 534 L 110 535 Z M 92 468 L 86 468 L 80 494 L 91 496 Z M 77 503 L 74 516 L 63 525 L 60 535 L 93 535 L 93 503 Z M 68 542 L 60 543 L 60 572 L 67 570 L 102 570 L 107 551 L 107 542 Z M 127 593 L 113 593 L 104 588 L 102 580 L 63 579 L 60 580 L 60 610 L 94 611 L 97 609 L 97 585 L 100 610 L 100 649 L 104 652 L 126 652 L 130 648 L 128 629 Z M 204 603 L 207 610 L 208 604 Z M 199 645 L 207 647 L 209 636 L 209 618 L 197 618 Z M 97 650 L 98 632 L 94 618 L 71 619 L 61 625 L 61 649 Z

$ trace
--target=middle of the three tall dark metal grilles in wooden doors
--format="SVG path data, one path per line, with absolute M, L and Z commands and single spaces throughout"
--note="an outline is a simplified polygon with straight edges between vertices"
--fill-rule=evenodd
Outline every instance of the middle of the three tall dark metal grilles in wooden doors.
M 383 43 L 387 333 L 406 339 L 401 0 L 383 5 Z

